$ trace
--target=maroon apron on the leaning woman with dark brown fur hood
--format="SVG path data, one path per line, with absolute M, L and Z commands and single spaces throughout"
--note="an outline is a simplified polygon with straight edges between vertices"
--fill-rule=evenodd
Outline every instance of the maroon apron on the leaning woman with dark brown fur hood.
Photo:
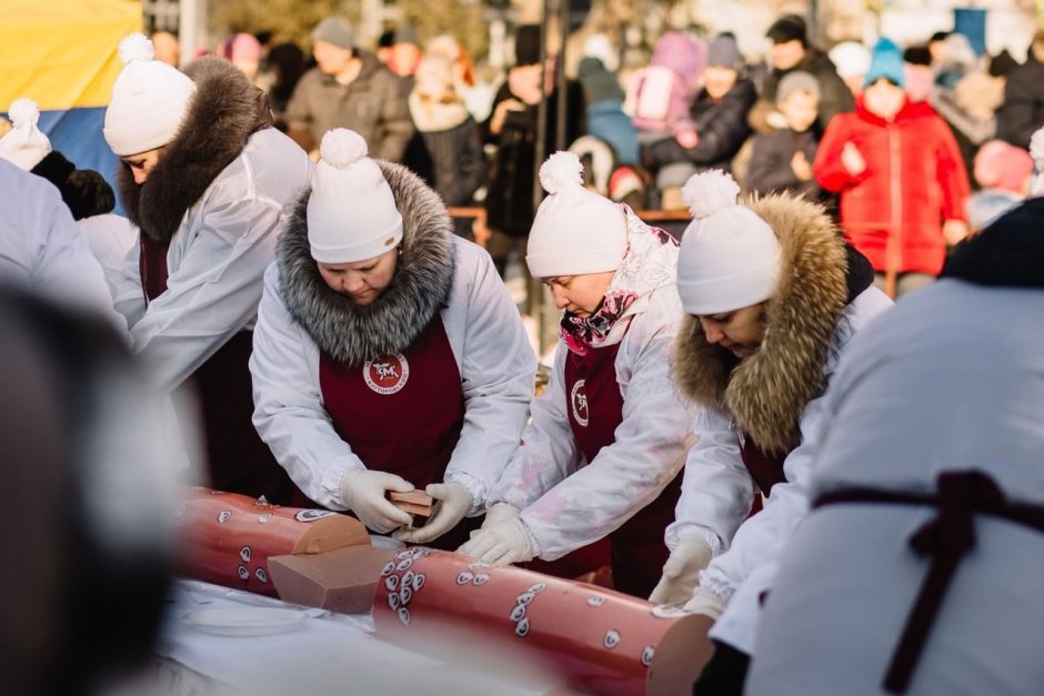
M 167 251 L 142 233 L 138 270 L 145 304 L 167 292 Z M 218 349 L 185 381 L 203 421 L 209 483 L 219 491 L 290 503 L 293 484 L 253 426 L 253 384 L 248 361 L 253 333 L 241 331 Z

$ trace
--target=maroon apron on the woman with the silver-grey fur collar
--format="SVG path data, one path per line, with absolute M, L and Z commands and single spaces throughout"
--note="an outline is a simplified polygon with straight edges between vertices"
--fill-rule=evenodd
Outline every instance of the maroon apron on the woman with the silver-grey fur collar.
M 464 393 L 441 315 L 405 353 L 348 365 L 320 352 L 319 386 L 333 428 L 367 468 L 419 491 L 442 482 L 464 426 Z M 455 551 L 476 526 L 465 517 L 428 545 Z

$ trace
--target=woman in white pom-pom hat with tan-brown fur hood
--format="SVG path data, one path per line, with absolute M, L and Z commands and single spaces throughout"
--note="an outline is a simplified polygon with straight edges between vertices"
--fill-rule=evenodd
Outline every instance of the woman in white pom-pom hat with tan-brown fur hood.
M 750 654 L 760 594 L 805 508 L 801 484 L 829 376 L 847 340 L 892 304 L 821 206 L 793 194 L 739 203 L 739 192 L 721 171 L 683 191 L 693 221 L 677 291 L 689 316 L 674 366 L 703 410 L 666 534 L 671 557 L 651 597 L 713 617 L 727 605 L 711 631 L 714 659 L 727 665 Z M 747 518 L 757 491 L 765 510 Z M 727 551 L 701 573 L 709 535 Z

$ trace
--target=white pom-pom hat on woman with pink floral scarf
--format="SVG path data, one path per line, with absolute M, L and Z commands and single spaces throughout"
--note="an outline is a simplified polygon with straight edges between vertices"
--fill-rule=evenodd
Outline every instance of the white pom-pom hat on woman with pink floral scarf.
M 623 209 L 583 188 L 583 164 L 555 152 L 540 168 L 550 193 L 536 209 L 525 262 L 533 278 L 615 271 L 628 251 Z

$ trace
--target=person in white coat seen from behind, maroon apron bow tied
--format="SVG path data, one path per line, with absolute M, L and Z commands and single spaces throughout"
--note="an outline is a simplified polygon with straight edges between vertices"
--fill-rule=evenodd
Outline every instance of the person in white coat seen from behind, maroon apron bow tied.
M 1042 224 L 998 219 L 850 345 L 747 693 L 1044 693 Z

